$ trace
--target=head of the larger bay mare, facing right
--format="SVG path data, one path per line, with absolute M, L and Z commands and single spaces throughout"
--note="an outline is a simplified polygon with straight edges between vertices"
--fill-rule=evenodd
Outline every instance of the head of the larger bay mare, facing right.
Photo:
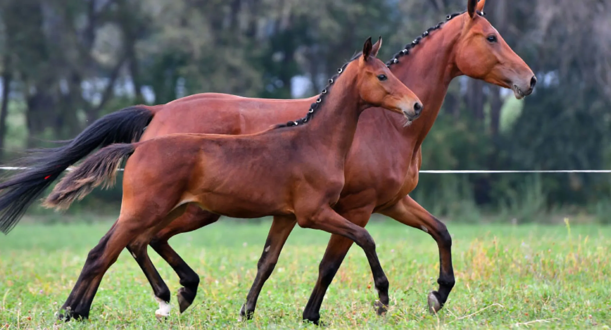
M 486 18 L 486 0 L 467 0 L 467 12 L 453 18 L 463 20 L 456 45 L 455 62 L 460 73 L 512 89 L 516 98 L 530 95 L 536 77 Z

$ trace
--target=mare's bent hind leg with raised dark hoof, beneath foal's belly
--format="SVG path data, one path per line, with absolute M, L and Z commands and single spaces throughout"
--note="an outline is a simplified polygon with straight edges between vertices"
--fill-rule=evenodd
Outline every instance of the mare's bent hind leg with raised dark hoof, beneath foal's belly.
M 202 210 L 197 205 L 189 205 L 184 215 L 172 221 L 167 227 L 156 233 L 155 237 L 150 241 L 151 248 L 166 260 L 180 279 L 180 285 L 182 285 L 182 287 L 178 289 L 177 296 L 178 307 L 181 313 L 185 312 L 185 310 L 191 306 L 197 295 L 199 275 L 197 275 L 197 273 L 187 265 L 185 260 L 172 249 L 170 244 L 167 243 L 167 240 L 179 233 L 192 232 L 193 230 L 213 224 L 218 221 L 220 217 L 221 216 L 215 215 L 214 213 Z M 161 277 L 159 277 L 159 281 L 163 283 Z M 165 283 L 163 283 L 163 285 L 167 288 Z M 155 290 L 154 285 L 153 290 Z M 167 301 L 169 301 L 169 290 L 167 298 Z

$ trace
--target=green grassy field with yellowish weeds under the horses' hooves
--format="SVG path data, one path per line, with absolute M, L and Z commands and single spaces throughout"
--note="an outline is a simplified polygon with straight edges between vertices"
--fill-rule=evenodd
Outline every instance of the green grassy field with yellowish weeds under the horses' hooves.
M 90 248 L 110 227 L 20 224 L 0 237 L 0 328 L 316 328 L 301 323 L 318 274 L 327 233 L 295 229 L 258 299 L 252 321 L 237 320 L 255 276 L 269 222 L 221 221 L 170 243 L 200 274 L 199 295 L 179 315 L 159 323 L 152 290 L 123 252 L 104 277 L 90 319 L 54 326 Z M 377 317 L 367 260 L 353 247 L 321 309 L 327 328 L 595 328 L 611 326 L 611 227 L 500 226 L 448 223 L 456 287 L 439 315 L 426 294 L 437 288 L 437 247 L 419 230 L 372 222 L 379 258 L 390 281 L 390 309 Z M 173 293 L 171 268 L 150 252 Z

